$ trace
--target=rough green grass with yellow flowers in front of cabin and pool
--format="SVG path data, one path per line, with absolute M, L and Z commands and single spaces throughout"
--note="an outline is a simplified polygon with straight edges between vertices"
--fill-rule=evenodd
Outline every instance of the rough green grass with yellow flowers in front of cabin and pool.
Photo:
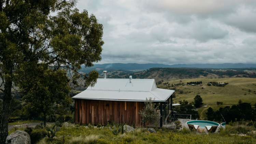
M 235 124 L 235 123 L 234 123 Z M 230 132 L 239 133 L 241 130 L 247 132 L 249 130 L 255 130 L 252 126 L 234 126 L 228 127 L 227 130 L 222 130 L 220 134 L 197 134 L 196 132 L 190 132 L 188 129 L 182 130 L 181 132 L 175 131 L 162 131 L 156 129 L 157 134 L 144 134 L 144 130 L 136 128 L 136 131 L 113 135 L 109 130 L 108 126 L 104 128 L 86 128 L 85 126 L 78 126 L 65 128 L 62 127 L 60 131 L 56 133 L 57 139 L 42 139 L 38 144 L 52 144 L 52 143 L 63 143 L 63 144 L 233 144 L 233 143 L 256 143 L 256 135 L 253 133 L 247 133 L 248 136 L 230 135 Z M 138 129 L 138 130 L 137 130 Z M 23 128 L 24 130 L 24 128 Z M 9 131 L 10 132 L 14 132 Z M 64 138 L 62 137 L 64 135 Z M 71 135 L 69 137 L 68 135 Z

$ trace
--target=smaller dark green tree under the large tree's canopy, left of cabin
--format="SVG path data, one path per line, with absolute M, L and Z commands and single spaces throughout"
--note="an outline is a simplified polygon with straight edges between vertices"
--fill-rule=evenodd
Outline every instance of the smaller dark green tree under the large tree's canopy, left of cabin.
M 44 125 L 46 125 L 46 115 L 49 115 L 54 109 L 54 105 L 61 104 L 62 109 L 67 108 L 71 104 L 71 98 L 68 93 L 71 86 L 66 76 L 64 69 L 53 71 L 47 70 L 40 71 L 38 77 L 22 80 L 20 86 L 20 94 L 23 100 L 28 103 L 24 107 L 25 114 L 40 114 L 44 115 Z M 39 73 L 39 72 L 38 72 Z M 35 117 L 34 115 L 30 115 Z

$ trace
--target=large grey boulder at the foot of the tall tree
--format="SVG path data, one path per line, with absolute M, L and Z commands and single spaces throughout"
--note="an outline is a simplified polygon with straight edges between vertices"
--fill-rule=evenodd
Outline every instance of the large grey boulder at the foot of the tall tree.
M 27 132 L 17 130 L 7 136 L 5 143 L 6 144 L 31 144 L 31 140 Z

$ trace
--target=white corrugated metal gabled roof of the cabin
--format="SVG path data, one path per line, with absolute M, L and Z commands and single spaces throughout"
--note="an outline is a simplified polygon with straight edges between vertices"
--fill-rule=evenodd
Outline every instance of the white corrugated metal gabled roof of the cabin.
M 72 99 L 146 101 L 146 98 L 152 98 L 161 102 L 173 92 L 157 88 L 154 79 L 132 79 L 130 83 L 130 79 L 98 78 L 94 87 L 88 87 Z

